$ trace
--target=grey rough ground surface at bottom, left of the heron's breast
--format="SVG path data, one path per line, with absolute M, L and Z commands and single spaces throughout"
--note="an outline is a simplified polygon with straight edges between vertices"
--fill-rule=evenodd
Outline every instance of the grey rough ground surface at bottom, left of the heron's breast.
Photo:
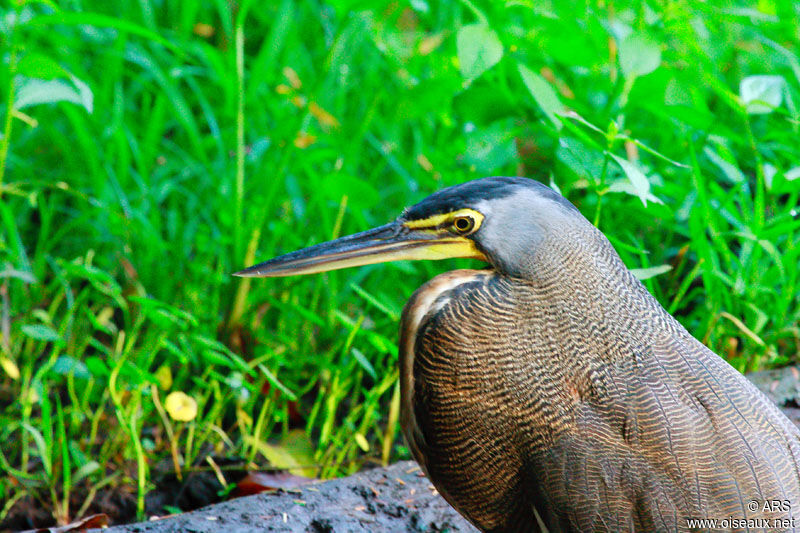
M 108 533 L 477 531 L 405 461 L 275 494 L 257 494 Z

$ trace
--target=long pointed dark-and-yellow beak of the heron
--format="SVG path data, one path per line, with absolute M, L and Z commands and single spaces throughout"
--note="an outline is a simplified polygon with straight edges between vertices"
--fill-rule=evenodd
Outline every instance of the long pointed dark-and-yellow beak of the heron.
M 415 230 L 395 221 L 270 259 L 236 272 L 234 276 L 296 276 L 387 261 L 453 257 L 486 260 L 470 239 L 446 230 Z

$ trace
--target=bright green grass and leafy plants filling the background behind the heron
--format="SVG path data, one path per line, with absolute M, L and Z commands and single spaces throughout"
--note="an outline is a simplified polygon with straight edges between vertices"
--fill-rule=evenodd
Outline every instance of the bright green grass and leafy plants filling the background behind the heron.
M 736 368 L 797 362 L 795 2 L 231 5 L 0 8 L 0 520 L 119 484 L 141 506 L 170 457 L 408 457 L 399 313 L 469 263 L 230 273 L 484 175 L 671 266 L 648 288 Z

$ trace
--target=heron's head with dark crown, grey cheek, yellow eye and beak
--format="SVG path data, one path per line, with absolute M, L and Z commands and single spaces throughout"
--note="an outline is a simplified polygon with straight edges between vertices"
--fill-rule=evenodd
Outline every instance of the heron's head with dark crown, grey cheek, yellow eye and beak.
M 537 244 L 588 222 L 564 197 L 525 178 L 483 178 L 442 189 L 396 220 L 291 252 L 235 275 L 280 277 L 417 259 L 473 258 L 524 276 Z

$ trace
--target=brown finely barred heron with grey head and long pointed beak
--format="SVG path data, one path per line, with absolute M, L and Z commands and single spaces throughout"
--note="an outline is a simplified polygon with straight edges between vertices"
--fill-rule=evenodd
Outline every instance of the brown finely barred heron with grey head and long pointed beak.
M 401 425 L 478 529 L 800 527 L 797 427 L 537 181 L 447 187 L 386 225 L 237 275 L 448 258 L 488 267 L 438 275 L 406 304 Z

